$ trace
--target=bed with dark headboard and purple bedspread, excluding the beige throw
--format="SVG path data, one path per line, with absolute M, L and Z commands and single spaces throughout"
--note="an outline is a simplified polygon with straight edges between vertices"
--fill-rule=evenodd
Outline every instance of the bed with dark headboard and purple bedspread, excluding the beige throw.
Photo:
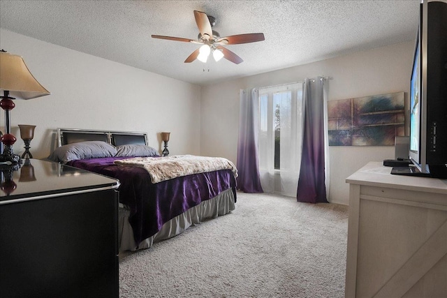
M 177 157 L 191 156 L 160 157 L 148 146 L 147 134 L 140 132 L 57 128 L 57 140 L 51 161 L 119 179 L 120 251 L 149 248 L 235 209 L 235 167 L 154 181 L 146 165 L 132 166 L 129 161 L 176 162 Z

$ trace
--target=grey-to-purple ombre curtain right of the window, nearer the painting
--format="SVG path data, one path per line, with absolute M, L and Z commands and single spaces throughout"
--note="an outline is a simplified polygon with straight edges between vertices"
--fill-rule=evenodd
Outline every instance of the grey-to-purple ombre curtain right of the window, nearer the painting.
M 298 179 L 298 202 L 328 202 L 325 187 L 325 125 L 324 125 L 324 80 L 305 81 L 304 131 L 300 177 Z

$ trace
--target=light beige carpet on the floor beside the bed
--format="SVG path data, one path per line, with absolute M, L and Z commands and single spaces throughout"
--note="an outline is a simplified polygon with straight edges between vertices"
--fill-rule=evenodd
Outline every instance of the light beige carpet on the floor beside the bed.
M 344 297 L 348 207 L 237 193 L 231 214 L 119 258 L 120 297 Z

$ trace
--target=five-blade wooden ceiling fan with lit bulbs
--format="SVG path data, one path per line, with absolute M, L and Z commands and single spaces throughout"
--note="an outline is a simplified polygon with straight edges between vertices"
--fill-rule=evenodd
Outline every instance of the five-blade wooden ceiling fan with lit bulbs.
M 197 40 L 161 35 L 152 35 L 152 38 L 201 44 L 201 47 L 192 52 L 192 54 L 190 54 L 189 57 L 186 58 L 186 60 L 184 61 L 185 63 L 191 63 L 196 59 L 205 63 L 208 59 L 208 56 L 212 52 L 214 60 L 219 61 L 220 59 L 225 58 L 235 64 L 240 64 L 243 60 L 239 56 L 237 56 L 237 54 L 226 49 L 226 47 L 223 47 L 223 45 L 256 43 L 257 41 L 264 40 L 263 33 L 247 33 L 220 37 L 219 32 L 212 29 L 214 24 L 216 24 L 216 19 L 214 17 L 198 10 L 194 10 L 194 17 L 196 18 L 198 31 L 200 32 L 198 34 Z

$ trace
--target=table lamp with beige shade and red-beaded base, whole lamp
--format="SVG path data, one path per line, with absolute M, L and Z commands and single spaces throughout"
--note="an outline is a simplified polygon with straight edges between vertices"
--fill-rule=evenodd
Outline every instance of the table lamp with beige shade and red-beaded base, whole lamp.
M 3 143 L 0 164 L 20 167 L 20 156 L 13 152 L 13 144 L 17 139 L 11 134 L 10 128 L 10 110 L 15 107 L 13 99 L 31 99 L 50 92 L 37 82 L 22 57 L 3 50 L 0 51 L 0 91 L 3 91 L 0 107 L 5 111 L 5 134 L 0 138 Z

